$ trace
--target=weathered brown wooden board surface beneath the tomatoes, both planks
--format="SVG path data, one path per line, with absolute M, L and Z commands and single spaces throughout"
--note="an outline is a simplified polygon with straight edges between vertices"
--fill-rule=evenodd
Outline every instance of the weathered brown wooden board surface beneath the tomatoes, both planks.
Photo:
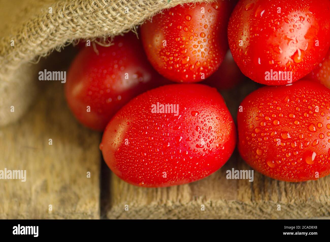
M 66 57 L 74 56 L 70 48 L 65 52 Z M 65 58 L 62 63 L 63 56 L 54 53 L 43 64 L 60 70 L 54 63 L 67 67 L 70 61 Z M 239 103 L 258 87 L 249 81 L 239 89 L 222 92 L 234 120 Z M 232 168 L 250 170 L 235 150 L 224 167 L 200 181 L 139 188 L 120 180 L 101 161 L 100 139 L 100 133 L 82 127 L 70 113 L 63 84 L 43 87 L 20 121 L 0 128 L 0 170 L 26 170 L 27 174 L 26 182 L 0 180 L 0 219 L 330 217 L 330 176 L 302 183 L 281 182 L 257 172 L 253 182 L 226 179 L 226 171 Z M 91 178 L 86 177 L 88 171 Z

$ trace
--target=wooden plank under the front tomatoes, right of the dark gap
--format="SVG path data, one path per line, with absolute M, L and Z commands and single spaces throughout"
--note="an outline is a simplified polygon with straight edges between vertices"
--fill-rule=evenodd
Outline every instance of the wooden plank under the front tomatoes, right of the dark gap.
M 242 99 L 259 85 L 221 92 L 234 120 Z M 330 176 L 301 183 L 282 182 L 254 171 L 254 181 L 226 179 L 226 171 L 251 170 L 235 150 L 209 177 L 182 186 L 140 188 L 110 175 L 110 219 L 301 219 L 330 217 Z M 125 210 L 128 205 L 128 211 Z M 202 205 L 205 210 L 202 211 Z M 281 210 L 278 210 L 281 205 Z M 126 206 L 127 207 L 127 206 Z

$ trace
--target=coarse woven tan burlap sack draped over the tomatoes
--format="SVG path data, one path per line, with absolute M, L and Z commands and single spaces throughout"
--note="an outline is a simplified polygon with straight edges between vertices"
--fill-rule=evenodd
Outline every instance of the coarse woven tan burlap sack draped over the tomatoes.
M 42 57 L 77 39 L 125 33 L 163 9 L 194 2 L 203 0 L 0 0 L 0 126 L 32 103 Z

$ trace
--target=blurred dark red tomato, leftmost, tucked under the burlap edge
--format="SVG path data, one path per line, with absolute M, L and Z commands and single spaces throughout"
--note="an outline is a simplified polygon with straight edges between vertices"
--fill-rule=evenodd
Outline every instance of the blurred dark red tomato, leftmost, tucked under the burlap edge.
M 65 95 L 82 124 L 103 131 L 123 105 L 156 87 L 163 77 L 150 66 L 134 34 L 118 36 L 114 45 L 97 46 L 97 50 L 99 54 L 92 46 L 85 47 L 77 55 L 68 72 Z

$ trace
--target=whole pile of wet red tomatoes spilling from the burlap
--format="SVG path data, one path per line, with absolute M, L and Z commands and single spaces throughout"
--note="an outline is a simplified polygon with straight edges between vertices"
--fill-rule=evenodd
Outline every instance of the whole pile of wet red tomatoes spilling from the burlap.
M 83 47 L 68 104 L 104 131 L 100 149 L 120 178 L 180 185 L 215 172 L 236 147 L 234 120 L 208 85 L 235 85 L 242 72 L 267 85 L 237 107 L 242 158 L 274 179 L 315 180 L 330 173 L 329 13 L 329 0 L 178 5 L 141 26 L 142 42 L 128 33 Z M 241 72 L 223 63 L 228 47 Z

